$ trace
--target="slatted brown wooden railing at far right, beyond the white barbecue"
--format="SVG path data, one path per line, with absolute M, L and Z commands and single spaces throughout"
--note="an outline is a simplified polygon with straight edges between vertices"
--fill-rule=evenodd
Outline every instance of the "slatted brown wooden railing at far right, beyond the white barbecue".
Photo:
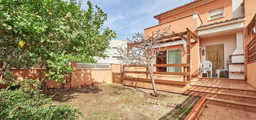
M 256 61 L 256 37 L 252 39 L 249 44 L 247 44 L 247 62 Z

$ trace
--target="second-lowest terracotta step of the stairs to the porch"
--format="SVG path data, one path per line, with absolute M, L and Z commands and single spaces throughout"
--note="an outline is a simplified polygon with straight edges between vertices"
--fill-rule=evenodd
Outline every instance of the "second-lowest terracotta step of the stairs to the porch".
M 226 99 L 226 100 L 241 101 L 245 103 L 256 104 L 256 96 L 249 96 L 249 95 L 243 95 L 243 94 L 229 94 L 229 93 L 222 93 L 219 91 L 210 91 L 210 90 L 207 91 L 207 90 L 189 89 L 189 95 L 191 96 L 202 96 L 204 94 L 207 94 L 208 96 L 212 98 L 217 98 L 217 99 Z

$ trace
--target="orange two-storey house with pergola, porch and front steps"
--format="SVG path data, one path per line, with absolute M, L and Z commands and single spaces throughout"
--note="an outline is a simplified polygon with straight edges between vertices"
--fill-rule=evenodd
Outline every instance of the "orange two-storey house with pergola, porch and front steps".
M 145 35 L 167 26 L 172 33 L 156 59 L 158 89 L 256 111 L 255 6 L 255 0 L 196 0 L 153 16 L 158 24 Z M 136 71 L 125 69 L 123 84 L 151 88 L 148 72 Z

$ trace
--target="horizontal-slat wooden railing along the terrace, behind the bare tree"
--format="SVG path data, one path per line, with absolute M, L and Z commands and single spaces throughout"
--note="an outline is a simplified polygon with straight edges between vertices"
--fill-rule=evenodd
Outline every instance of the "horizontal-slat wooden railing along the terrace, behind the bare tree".
M 183 76 L 183 81 L 170 81 L 168 79 L 155 79 L 156 82 L 158 83 L 163 83 L 163 84 L 179 84 L 179 85 L 186 85 L 190 81 L 190 65 L 189 64 L 154 64 L 155 67 L 183 67 L 182 72 L 165 72 L 165 71 L 154 71 L 154 75 L 175 75 L 175 76 Z M 130 68 L 131 67 L 145 67 L 146 71 L 128 71 L 125 70 L 125 68 Z M 125 74 L 146 74 L 146 79 L 144 78 L 136 78 L 136 77 L 126 77 Z M 151 79 L 148 78 L 149 71 L 146 69 L 146 66 L 141 66 L 141 65 L 129 65 L 123 66 L 123 79 L 125 80 L 137 80 L 137 81 L 151 81 Z

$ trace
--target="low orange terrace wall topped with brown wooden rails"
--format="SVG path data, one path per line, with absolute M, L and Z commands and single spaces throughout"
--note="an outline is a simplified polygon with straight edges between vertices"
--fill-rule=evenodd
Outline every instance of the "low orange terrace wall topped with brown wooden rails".
M 156 86 L 163 91 L 183 93 L 188 89 L 190 81 L 189 64 L 155 64 L 155 67 L 182 67 L 181 72 L 154 71 Z M 149 71 L 145 66 L 129 65 L 123 66 L 123 84 L 128 86 L 139 86 L 151 89 Z

